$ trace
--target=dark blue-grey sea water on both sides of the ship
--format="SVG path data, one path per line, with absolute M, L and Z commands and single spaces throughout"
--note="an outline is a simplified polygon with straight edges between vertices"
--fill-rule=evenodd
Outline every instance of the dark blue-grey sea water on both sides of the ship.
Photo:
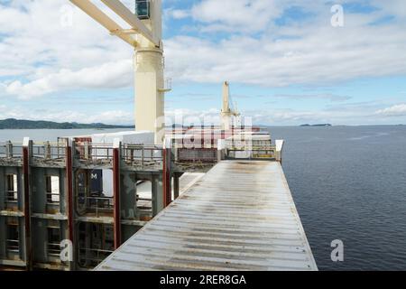
M 0 130 L 0 142 L 115 130 Z M 406 270 L 406 126 L 271 127 L 320 270 Z M 331 241 L 344 262 L 331 261 Z

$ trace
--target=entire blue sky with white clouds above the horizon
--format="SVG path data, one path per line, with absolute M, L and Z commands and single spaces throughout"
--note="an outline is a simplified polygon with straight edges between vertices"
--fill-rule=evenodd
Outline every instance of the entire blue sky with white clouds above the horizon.
M 331 24 L 333 5 L 344 7 L 343 27 Z M 256 124 L 406 124 L 404 0 L 163 0 L 163 8 L 170 116 L 215 122 L 229 80 Z M 132 124 L 132 55 L 68 0 L 0 0 L 0 119 Z

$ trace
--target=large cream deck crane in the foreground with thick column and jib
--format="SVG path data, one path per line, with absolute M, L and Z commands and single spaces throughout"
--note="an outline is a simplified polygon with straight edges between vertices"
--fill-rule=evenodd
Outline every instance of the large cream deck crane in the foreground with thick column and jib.
M 111 34 L 134 47 L 135 70 L 135 128 L 137 131 L 155 133 L 155 144 L 161 144 L 164 133 L 163 45 L 161 0 L 134 0 L 135 14 L 119 0 L 101 1 L 116 15 L 129 24 L 123 29 L 90 0 L 69 0 L 77 5 Z

